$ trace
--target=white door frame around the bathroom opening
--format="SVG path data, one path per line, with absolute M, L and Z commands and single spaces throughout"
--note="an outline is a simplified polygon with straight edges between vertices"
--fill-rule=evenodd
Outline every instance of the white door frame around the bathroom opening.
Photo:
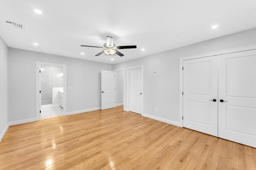
M 36 61 L 36 120 L 40 120 L 40 94 L 38 93 L 40 89 L 40 76 L 39 76 L 39 68 L 40 65 L 51 65 L 51 66 L 60 66 L 63 67 L 63 115 L 67 115 L 67 74 L 66 74 L 66 64 L 57 64 L 57 63 L 46 63 L 46 62 L 40 62 Z

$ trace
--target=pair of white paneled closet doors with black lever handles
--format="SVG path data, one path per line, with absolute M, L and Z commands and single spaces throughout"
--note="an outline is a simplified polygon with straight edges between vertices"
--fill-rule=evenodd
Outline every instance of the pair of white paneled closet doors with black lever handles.
M 183 126 L 256 147 L 256 50 L 183 62 Z

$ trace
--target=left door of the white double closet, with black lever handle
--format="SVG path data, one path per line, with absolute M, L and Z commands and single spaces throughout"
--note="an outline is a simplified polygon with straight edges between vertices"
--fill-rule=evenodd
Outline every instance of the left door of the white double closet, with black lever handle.
M 183 67 L 183 126 L 218 136 L 218 57 L 186 60 Z

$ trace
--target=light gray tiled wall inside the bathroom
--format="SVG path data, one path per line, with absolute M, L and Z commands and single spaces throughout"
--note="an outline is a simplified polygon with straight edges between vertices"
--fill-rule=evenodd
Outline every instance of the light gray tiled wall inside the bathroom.
M 63 68 L 41 65 L 41 105 L 52 104 L 53 87 L 63 87 Z

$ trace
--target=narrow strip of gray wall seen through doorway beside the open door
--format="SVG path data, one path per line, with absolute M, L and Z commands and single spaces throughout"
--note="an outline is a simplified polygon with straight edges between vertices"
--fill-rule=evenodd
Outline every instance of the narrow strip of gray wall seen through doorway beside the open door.
M 124 103 L 124 70 L 116 71 L 116 104 Z

